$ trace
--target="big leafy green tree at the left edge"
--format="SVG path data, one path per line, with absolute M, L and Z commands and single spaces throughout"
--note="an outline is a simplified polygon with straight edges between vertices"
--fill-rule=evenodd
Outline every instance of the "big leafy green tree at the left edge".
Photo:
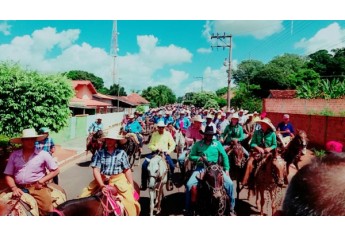
M 43 126 L 58 132 L 67 125 L 74 91 L 65 76 L 1 63 L 0 88 L 0 134 L 13 137 L 25 128 Z

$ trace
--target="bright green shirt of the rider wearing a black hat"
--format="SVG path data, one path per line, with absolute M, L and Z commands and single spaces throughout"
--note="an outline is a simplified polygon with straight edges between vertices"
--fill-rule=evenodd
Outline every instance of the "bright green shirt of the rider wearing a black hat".
M 206 145 L 204 140 L 196 142 L 190 151 L 189 160 L 196 162 L 202 156 L 202 154 L 206 155 L 207 161 L 214 163 L 218 163 L 218 157 L 219 154 L 221 154 L 223 158 L 224 170 L 228 171 L 230 169 L 228 155 L 219 141 L 212 140 L 210 145 Z M 197 165 L 200 166 L 203 165 L 203 163 L 197 162 Z

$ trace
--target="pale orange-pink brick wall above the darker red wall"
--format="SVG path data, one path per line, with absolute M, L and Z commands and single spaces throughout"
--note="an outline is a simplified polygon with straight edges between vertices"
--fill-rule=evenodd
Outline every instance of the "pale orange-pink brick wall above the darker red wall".
M 274 99 L 263 100 L 263 110 L 266 112 L 291 114 L 320 114 L 325 110 L 335 115 L 345 114 L 345 99 Z

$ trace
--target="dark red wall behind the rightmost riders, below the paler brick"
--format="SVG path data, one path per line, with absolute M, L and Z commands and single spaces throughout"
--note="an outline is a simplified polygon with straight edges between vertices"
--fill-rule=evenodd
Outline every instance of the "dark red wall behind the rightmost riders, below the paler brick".
M 285 113 L 285 112 L 284 112 Z M 284 113 L 267 112 L 267 117 L 277 126 Z M 290 121 L 295 129 L 307 132 L 311 147 L 323 148 L 327 141 L 336 140 L 345 144 L 345 117 L 302 115 L 289 112 Z

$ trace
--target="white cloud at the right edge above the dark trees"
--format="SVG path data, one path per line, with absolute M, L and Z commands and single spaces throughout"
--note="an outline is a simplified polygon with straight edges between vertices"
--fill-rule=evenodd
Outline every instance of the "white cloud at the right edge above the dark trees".
M 302 38 L 295 47 L 304 49 L 307 55 L 321 49 L 330 51 L 334 48 L 345 47 L 345 29 L 341 29 L 338 23 L 332 23 L 319 30 L 310 39 Z

